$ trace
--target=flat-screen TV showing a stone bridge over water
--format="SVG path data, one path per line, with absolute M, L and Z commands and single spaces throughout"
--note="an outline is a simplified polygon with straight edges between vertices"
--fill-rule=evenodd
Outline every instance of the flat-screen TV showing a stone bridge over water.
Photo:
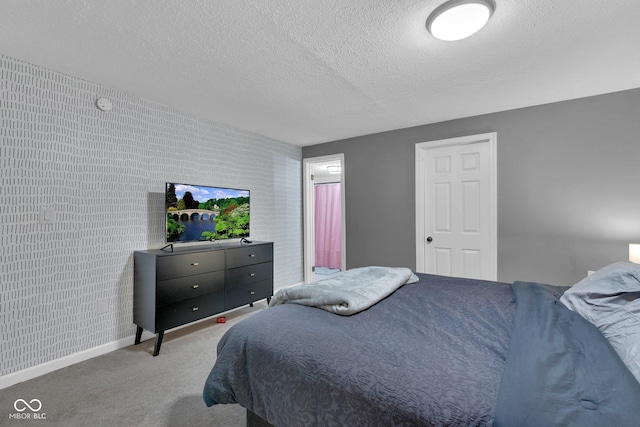
M 249 237 L 249 190 L 167 182 L 167 243 Z

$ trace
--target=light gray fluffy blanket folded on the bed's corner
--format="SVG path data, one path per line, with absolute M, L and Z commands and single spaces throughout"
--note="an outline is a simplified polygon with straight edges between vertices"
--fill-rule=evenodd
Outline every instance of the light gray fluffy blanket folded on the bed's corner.
M 418 280 L 411 270 L 403 267 L 354 268 L 317 282 L 280 289 L 269 307 L 294 303 L 348 316 L 371 307 L 402 285 Z

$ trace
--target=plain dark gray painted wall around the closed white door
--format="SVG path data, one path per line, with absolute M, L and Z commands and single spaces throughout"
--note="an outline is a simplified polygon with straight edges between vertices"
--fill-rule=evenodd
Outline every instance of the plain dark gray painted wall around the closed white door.
M 415 268 L 415 144 L 497 132 L 498 280 L 573 284 L 640 241 L 640 89 L 304 147 L 345 155 L 347 267 Z

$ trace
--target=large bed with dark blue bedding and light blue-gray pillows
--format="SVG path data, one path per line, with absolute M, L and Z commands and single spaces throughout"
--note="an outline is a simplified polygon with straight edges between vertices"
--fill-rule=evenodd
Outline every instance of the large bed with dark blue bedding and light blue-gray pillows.
M 570 289 L 416 274 L 350 315 L 279 304 L 220 340 L 204 400 L 277 427 L 637 425 L 633 366 L 580 314 L 638 308 L 640 266 L 607 268 Z M 612 275 L 636 287 L 592 292 Z

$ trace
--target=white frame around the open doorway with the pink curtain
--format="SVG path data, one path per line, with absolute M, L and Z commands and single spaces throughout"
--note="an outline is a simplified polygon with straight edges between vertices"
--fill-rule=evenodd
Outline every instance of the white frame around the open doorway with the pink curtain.
M 304 222 L 304 282 L 310 283 L 314 280 L 313 267 L 316 258 L 315 250 L 315 191 L 313 182 L 313 168 L 316 163 L 326 163 L 328 161 L 338 161 L 340 163 L 340 219 L 341 219 L 341 236 L 340 236 L 340 269 L 346 270 L 347 265 L 347 234 L 346 234 L 346 205 L 345 205 L 345 184 L 344 184 L 344 153 L 330 154 L 327 156 L 308 157 L 302 159 L 302 203 L 303 203 L 303 222 Z

